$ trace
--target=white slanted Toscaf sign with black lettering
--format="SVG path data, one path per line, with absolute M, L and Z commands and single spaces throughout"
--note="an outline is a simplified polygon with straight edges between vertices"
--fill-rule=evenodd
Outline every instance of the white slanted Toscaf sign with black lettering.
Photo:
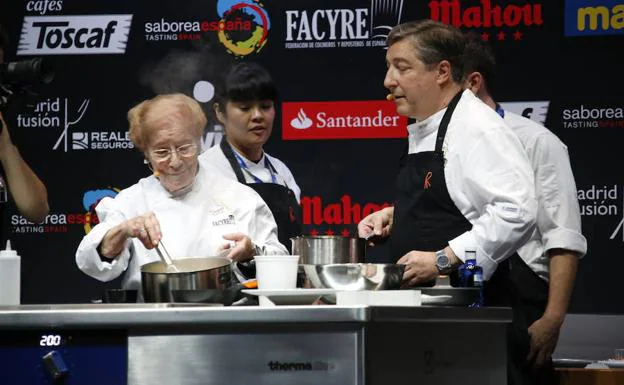
M 18 55 L 123 54 L 132 15 L 26 16 Z

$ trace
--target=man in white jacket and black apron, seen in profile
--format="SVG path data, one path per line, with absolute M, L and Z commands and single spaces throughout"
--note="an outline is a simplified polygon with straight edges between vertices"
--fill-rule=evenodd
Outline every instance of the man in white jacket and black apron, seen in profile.
M 522 144 L 503 119 L 463 87 L 464 34 L 423 20 L 394 27 L 387 38 L 384 86 L 397 113 L 416 119 L 397 177 L 397 198 L 358 224 L 361 237 L 388 237 L 390 257 L 405 264 L 404 286 L 421 286 L 455 271 L 466 250 L 483 268 L 484 304 L 511 306 L 516 250 L 535 226 L 533 172 Z M 511 330 L 511 329 L 510 329 Z M 510 335 L 510 384 L 526 383 L 517 359 L 523 335 Z M 484 343 L 487 343 L 484 341 Z M 523 357 L 524 359 L 524 357 Z

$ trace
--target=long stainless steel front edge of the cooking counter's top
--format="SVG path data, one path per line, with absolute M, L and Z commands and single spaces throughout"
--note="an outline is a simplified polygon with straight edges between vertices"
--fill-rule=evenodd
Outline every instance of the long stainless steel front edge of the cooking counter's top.
M 175 303 L 0 306 L 1 329 L 117 328 L 215 324 L 341 322 L 504 323 L 507 308 L 277 306 L 224 307 Z

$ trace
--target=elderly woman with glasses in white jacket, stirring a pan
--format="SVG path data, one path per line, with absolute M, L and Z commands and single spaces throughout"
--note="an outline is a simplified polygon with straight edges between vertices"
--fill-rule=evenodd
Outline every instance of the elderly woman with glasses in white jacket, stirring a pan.
M 287 254 L 271 211 L 251 188 L 198 162 L 206 117 L 183 94 L 159 95 L 128 112 L 130 137 L 153 175 L 96 207 L 100 223 L 80 242 L 76 263 L 86 274 L 141 289 L 141 266 L 158 261 L 162 240 L 173 259 L 216 255 L 245 262 Z M 232 246 L 234 245 L 234 246 Z

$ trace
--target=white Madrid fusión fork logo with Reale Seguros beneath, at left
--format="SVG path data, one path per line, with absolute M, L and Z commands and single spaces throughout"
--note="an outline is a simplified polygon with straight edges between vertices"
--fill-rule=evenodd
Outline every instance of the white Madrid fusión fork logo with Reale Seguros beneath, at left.
M 83 131 L 86 127 L 79 123 L 83 121 L 90 103 L 91 100 L 87 98 L 76 103 L 69 98 L 48 98 L 37 102 L 31 111 L 18 113 L 16 124 L 19 128 L 59 130 L 61 133 L 52 146 L 53 150 L 62 149 L 67 152 L 70 148 L 73 150 L 134 148 L 127 131 Z M 81 127 L 81 130 L 73 131 L 77 127 Z

